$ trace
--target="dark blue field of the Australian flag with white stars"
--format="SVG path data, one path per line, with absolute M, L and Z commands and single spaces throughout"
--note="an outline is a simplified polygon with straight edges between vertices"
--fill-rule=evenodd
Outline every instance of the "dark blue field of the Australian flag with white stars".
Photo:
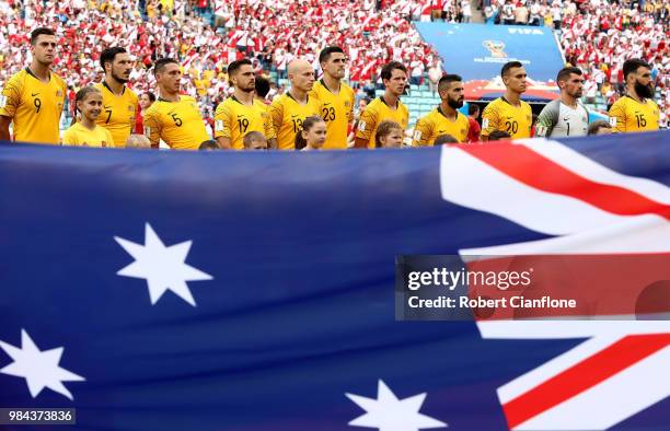
M 670 185 L 667 133 L 564 143 Z M 396 255 L 552 236 L 444 200 L 439 148 L 10 144 L 0 183 L 0 407 L 77 408 L 67 429 L 362 429 L 349 424 L 367 413 L 354 399 L 388 388 L 426 394 L 413 416 L 424 421 L 367 429 L 506 430 L 497 388 L 582 341 L 394 321 Z M 31 365 L 31 347 L 62 351 Z M 668 407 L 616 429 L 667 429 Z

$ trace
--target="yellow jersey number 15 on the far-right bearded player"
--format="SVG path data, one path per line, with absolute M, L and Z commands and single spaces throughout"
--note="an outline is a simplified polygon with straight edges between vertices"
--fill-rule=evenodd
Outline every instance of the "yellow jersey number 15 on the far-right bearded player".
M 656 102 L 639 103 L 625 95 L 610 108 L 610 124 L 619 132 L 658 130 L 659 110 Z

